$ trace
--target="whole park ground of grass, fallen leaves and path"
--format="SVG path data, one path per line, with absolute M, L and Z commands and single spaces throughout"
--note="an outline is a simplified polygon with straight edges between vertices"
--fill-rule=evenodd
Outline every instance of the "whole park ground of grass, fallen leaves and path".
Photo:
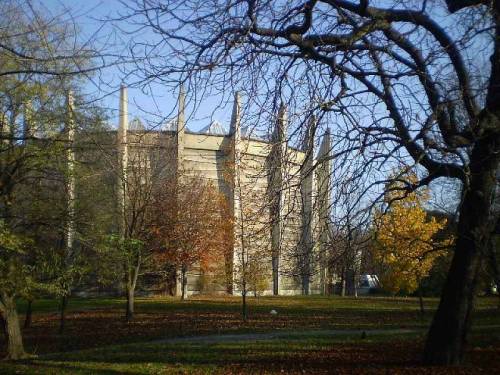
M 127 323 L 123 299 L 73 298 L 59 334 L 57 302 L 40 300 L 24 330 L 36 357 L 0 362 L 0 373 L 500 373 L 493 297 L 477 300 L 463 366 L 420 365 L 437 302 L 426 299 L 421 316 L 414 298 L 250 298 L 244 322 L 237 297 L 139 298 Z

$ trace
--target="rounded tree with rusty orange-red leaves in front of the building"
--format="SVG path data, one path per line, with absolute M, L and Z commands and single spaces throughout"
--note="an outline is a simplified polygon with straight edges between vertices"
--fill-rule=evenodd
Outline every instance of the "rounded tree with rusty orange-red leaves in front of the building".
M 210 181 L 186 172 L 177 177 L 155 191 L 150 234 L 155 258 L 178 270 L 185 299 L 193 267 L 224 274 L 225 264 L 232 262 L 232 219 L 227 198 Z

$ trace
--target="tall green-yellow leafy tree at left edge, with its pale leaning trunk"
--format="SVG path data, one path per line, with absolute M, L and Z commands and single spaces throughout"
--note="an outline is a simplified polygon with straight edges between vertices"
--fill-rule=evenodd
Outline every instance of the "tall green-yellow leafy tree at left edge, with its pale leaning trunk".
M 72 147 L 66 96 L 79 74 L 97 69 L 92 59 L 99 52 L 90 41 L 82 47 L 67 15 L 45 14 L 32 2 L 0 4 L 0 315 L 10 359 L 26 355 L 16 299 L 32 296 L 40 287 L 37 276 L 53 260 L 53 247 L 40 246 L 38 234 L 45 232 L 46 240 L 48 232 L 61 234 L 65 227 L 66 168 L 59 167 Z M 37 199 L 42 190 L 62 199 L 43 210 L 43 199 Z M 39 249 L 44 251 L 37 254 Z

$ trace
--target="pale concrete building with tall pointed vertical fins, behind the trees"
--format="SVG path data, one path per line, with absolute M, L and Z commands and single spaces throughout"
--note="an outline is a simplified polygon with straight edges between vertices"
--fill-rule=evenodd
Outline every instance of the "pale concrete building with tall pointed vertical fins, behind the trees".
M 324 292 L 327 265 L 321 254 L 328 242 L 331 172 L 328 133 L 317 155 L 312 132 L 302 149 L 289 147 L 286 108 L 281 106 L 272 137 L 252 138 L 240 125 L 238 93 L 227 132 L 216 122 L 193 132 L 186 127 L 182 90 L 176 120 L 146 131 L 140 121 L 129 122 L 127 101 L 127 88 L 122 87 L 116 133 L 121 168 L 117 199 L 122 212 L 127 196 L 142 179 L 160 174 L 177 178 L 181 170 L 202 176 L 227 197 L 234 215 L 232 293 L 240 292 L 242 270 L 252 262 L 264 265 L 258 270 L 267 280 L 263 294 Z M 132 164 L 149 172 L 133 177 L 127 172 Z M 200 291 L 200 277 L 199 269 L 190 270 L 188 295 Z

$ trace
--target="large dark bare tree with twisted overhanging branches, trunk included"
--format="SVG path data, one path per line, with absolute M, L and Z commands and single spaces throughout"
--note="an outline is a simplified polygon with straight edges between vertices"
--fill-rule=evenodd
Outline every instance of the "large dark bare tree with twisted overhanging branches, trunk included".
M 418 166 L 408 191 L 461 183 L 456 250 L 425 347 L 426 363 L 459 363 L 495 222 L 500 2 L 144 0 L 130 15 L 153 31 L 131 47 L 147 82 L 180 74 L 207 90 L 239 86 L 256 124 L 286 100 L 290 134 L 318 112 L 334 121 L 337 163 L 362 160 L 351 177 L 371 175 L 371 186 L 395 159 Z

